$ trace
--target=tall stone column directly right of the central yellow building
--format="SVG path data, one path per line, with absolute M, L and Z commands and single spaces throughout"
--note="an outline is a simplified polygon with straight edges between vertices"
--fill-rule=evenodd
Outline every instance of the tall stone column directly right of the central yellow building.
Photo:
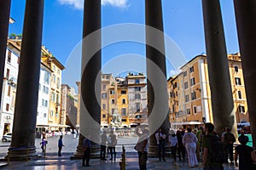
M 149 131 L 149 156 L 158 156 L 154 133 L 158 127 L 169 134 L 170 122 L 168 120 L 168 97 L 166 81 L 166 56 L 163 32 L 162 4 L 161 1 L 145 1 L 146 8 L 146 56 L 147 56 L 147 87 L 148 87 L 148 117 L 164 114 L 164 119 L 158 122 L 148 118 Z M 155 30 L 157 29 L 157 31 Z M 158 70 L 160 72 L 158 72 Z M 160 76 L 162 74 L 162 77 Z M 162 94 L 160 98 L 157 95 Z M 160 124 L 159 124 L 160 123 Z M 167 139 L 167 137 L 166 137 Z

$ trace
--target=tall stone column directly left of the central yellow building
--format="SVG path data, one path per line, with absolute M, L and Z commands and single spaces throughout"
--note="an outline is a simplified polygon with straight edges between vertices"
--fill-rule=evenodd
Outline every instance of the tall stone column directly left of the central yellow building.
M 80 135 L 77 153 L 83 155 L 83 139 L 94 142 L 91 157 L 100 156 L 102 35 L 101 0 L 84 0 L 84 30 L 80 98 Z M 97 31 L 97 32 L 94 32 Z

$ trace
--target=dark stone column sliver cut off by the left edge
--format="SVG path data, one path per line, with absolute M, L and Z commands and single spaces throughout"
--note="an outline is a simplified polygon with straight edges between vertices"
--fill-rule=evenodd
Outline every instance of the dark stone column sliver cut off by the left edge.
M 10 0 L 0 1 L 0 108 L 2 104 L 3 73 L 9 28 Z

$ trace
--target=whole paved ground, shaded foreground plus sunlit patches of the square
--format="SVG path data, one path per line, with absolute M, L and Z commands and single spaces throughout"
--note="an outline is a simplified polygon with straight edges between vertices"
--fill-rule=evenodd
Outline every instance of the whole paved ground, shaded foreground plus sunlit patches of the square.
M 121 158 L 122 145 L 125 145 L 126 150 L 126 170 L 136 170 L 138 168 L 137 163 L 137 152 L 133 149 L 137 142 L 137 138 L 125 138 L 119 137 L 119 145 L 117 146 L 117 159 L 116 161 L 100 161 L 99 159 L 91 159 L 91 167 L 82 167 L 81 160 L 70 160 L 76 150 L 78 139 L 74 138 L 73 135 L 64 135 L 63 143 L 65 147 L 62 150 L 62 156 L 57 156 L 57 141 L 59 137 L 50 137 L 47 144 L 46 158 L 39 158 L 34 161 L 10 161 L 9 165 L 0 167 L 0 169 L 26 169 L 26 170 L 76 170 L 76 169 L 99 169 L 99 170 L 115 170 L 120 169 L 119 161 Z M 7 150 L 10 143 L 0 143 L 0 156 L 6 156 Z M 35 145 L 38 151 L 38 155 L 42 156 L 40 148 L 40 139 L 35 140 Z M 3 147 L 1 147 L 3 146 Z M 1 163 L 1 162 L 0 162 Z M 6 162 L 2 162 L 6 163 Z M 148 158 L 148 170 L 163 170 L 163 169 L 178 169 L 185 170 L 189 169 L 188 161 L 173 162 L 171 157 L 166 158 L 166 162 L 158 161 L 158 158 Z M 190 168 L 191 169 L 191 168 Z M 203 169 L 201 164 L 199 167 L 193 168 L 195 170 Z M 234 165 L 225 165 L 226 170 L 237 170 L 238 168 Z

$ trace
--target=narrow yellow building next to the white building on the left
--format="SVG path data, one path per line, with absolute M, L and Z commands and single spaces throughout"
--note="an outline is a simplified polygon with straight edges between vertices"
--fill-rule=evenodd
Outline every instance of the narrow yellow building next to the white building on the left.
M 41 59 L 53 71 L 50 80 L 48 123 L 52 130 L 57 130 L 61 124 L 61 71 L 65 67 L 44 46 L 42 47 Z

